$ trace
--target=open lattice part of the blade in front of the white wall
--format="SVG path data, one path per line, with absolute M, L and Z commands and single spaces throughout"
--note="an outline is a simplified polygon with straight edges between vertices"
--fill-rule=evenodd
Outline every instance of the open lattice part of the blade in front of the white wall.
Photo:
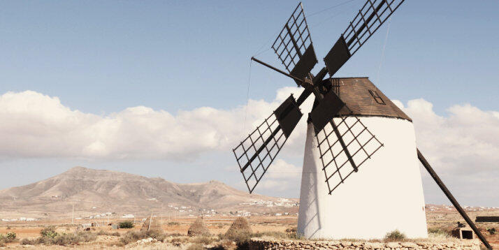
M 352 116 L 333 118 L 316 138 L 329 194 L 383 146 L 359 117 Z

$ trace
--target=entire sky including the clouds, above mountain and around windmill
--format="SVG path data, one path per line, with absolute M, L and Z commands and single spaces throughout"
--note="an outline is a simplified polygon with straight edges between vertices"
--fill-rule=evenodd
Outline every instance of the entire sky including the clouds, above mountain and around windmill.
M 312 72 L 363 2 L 303 2 Z M 1 1 L 0 189 L 85 166 L 244 190 L 231 149 L 300 91 L 250 57 L 283 68 L 270 45 L 296 4 Z M 335 74 L 396 100 L 463 205 L 499 207 L 498 10 L 407 0 Z M 304 141 L 305 118 L 257 193 L 299 196 Z M 449 204 L 421 174 L 426 203 Z

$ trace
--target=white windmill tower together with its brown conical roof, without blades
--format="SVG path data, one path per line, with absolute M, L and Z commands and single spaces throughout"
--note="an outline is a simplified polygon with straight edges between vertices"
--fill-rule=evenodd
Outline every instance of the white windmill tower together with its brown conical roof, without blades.
M 359 166 L 358 172 L 354 172 L 345 152 L 340 154 L 340 143 L 334 144 L 331 152 L 327 152 L 328 147 L 323 148 L 325 143 L 324 137 L 321 137 L 322 132 L 319 133 L 318 140 L 313 125 L 308 124 L 298 233 L 308 238 L 380 239 L 386 233 L 400 230 L 410 238 L 428 237 L 416 138 L 410 117 L 367 78 L 340 78 L 338 82 L 341 82 L 340 98 L 348 107 L 340 110 L 339 114 L 349 117 L 345 122 L 352 128 L 348 130 L 340 117 L 333 120 L 340 133 L 345 134 L 342 137 L 347 140 L 345 144 L 352 141 L 347 146 L 349 151 L 352 154 L 361 152 L 352 157 L 353 161 L 358 165 L 363 159 L 366 161 Z M 363 137 L 371 136 L 359 135 L 354 139 L 352 135 L 347 138 L 349 131 L 355 135 L 366 133 L 360 123 L 355 123 L 356 117 L 350 115 L 358 115 L 361 124 L 375 135 L 382 147 L 375 151 L 378 146 L 373 144 L 375 139 L 372 139 L 370 144 L 366 142 L 363 149 L 354 148 L 357 143 L 355 140 L 362 141 L 365 139 Z M 325 129 L 331 131 L 328 139 L 331 144 L 336 142 L 331 125 L 328 124 Z M 318 141 L 323 143 L 321 149 Z M 327 154 L 322 154 L 321 158 L 322 151 Z M 369 159 L 368 154 L 371 152 L 375 153 Z M 345 162 L 346 165 L 342 166 L 347 167 L 340 168 L 338 172 L 338 168 L 330 164 L 326 168 L 329 178 L 326 182 L 322 160 L 331 162 L 333 157 L 328 159 L 328 154 L 336 156 L 338 165 Z M 345 157 L 341 159 L 342 156 Z M 338 186 L 334 189 L 336 184 Z

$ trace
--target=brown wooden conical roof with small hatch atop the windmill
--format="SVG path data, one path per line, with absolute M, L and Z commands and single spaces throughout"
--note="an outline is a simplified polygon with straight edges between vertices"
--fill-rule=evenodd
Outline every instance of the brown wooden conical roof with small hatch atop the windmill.
M 340 85 L 339 96 L 345 102 L 339 115 L 393 117 L 412 122 L 369 78 L 333 78 L 333 81 Z

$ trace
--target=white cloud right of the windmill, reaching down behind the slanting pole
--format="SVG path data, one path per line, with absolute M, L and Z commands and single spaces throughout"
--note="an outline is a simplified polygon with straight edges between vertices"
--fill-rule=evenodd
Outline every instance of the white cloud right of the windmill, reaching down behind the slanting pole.
M 424 99 L 396 104 L 413 119 L 419 149 L 462 204 L 498 205 L 499 112 L 463 104 L 441 116 Z M 426 202 L 448 203 L 426 170 L 421 172 Z

